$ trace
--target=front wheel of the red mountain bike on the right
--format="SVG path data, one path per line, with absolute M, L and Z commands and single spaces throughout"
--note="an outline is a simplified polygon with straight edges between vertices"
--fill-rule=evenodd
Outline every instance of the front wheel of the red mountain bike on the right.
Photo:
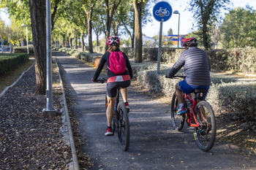
M 185 115 L 176 115 L 178 110 L 178 98 L 176 96 L 176 92 L 173 93 L 173 99 L 170 106 L 170 115 L 173 121 L 173 128 L 176 131 L 181 131 L 185 123 Z

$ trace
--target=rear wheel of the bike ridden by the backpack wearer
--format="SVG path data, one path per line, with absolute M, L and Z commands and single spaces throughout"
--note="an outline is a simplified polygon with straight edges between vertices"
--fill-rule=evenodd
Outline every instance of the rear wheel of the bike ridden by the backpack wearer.
M 129 148 L 129 117 L 127 108 L 125 107 L 124 102 L 119 102 L 117 106 L 118 114 L 118 139 L 121 142 L 121 145 L 124 151 L 127 151 Z

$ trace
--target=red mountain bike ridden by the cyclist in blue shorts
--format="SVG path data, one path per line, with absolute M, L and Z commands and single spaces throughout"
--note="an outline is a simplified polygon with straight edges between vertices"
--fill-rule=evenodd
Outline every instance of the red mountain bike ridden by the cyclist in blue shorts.
M 184 76 L 174 76 L 173 78 Z M 204 89 L 196 89 L 194 94 L 184 93 L 184 107 L 187 111 L 186 114 L 177 115 L 178 98 L 176 92 L 173 93 L 171 102 L 170 114 L 173 121 L 173 128 L 181 131 L 184 126 L 185 120 L 187 125 L 194 128 L 194 136 L 197 146 L 200 150 L 208 151 L 214 146 L 216 139 L 216 122 L 214 110 L 207 101 L 197 102 L 198 96 L 203 96 Z M 192 97 L 193 96 L 193 97 Z

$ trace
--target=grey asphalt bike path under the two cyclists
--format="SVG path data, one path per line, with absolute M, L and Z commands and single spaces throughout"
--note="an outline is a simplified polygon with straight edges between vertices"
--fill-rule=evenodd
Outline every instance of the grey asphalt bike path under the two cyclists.
M 65 53 L 53 52 L 53 57 L 67 85 L 73 116 L 80 120 L 80 135 L 86 139 L 80 150 L 94 164 L 87 169 L 256 169 L 256 157 L 241 154 L 232 144 L 217 141 L 209 152 L 201 151 L 186 123 L 181 132 L 173 130 L 170 104 L 132 88 L 129 150 L 122 151 L 117 133 L 104 135 L 106 84 L 91 82 L 96 69 Z

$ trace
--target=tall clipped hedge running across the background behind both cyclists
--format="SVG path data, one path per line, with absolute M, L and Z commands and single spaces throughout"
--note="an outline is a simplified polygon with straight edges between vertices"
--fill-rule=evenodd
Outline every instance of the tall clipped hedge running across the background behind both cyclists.
M 134 49 L 131 47 L 121 47 L 129 58 L 134 58 Z M 94 47 L 97 53 L 104 53 L 105 48 Z M 184 49 L 162 48 L 161 62 L 175 63 Z M 243 72 L 256 74 L 256 48 L 236 48 L 230 50 L 208 50 L 211 61 L 211 68 L 217 70 Z M 143 61 L 157 61 L 158 48 L 143 47 Z

